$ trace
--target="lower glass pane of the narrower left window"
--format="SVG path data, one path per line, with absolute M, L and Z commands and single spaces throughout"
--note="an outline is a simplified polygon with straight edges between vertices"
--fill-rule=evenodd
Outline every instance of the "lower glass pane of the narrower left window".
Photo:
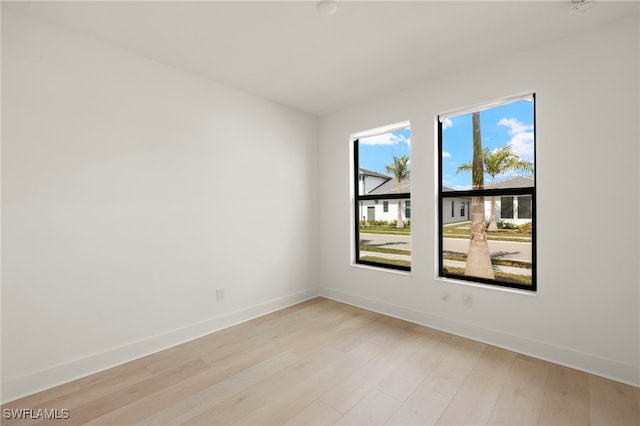
M 407 200 L 360 201 L 359 261 L 411 266 L 411 221 L 407 220 Z M 388 211 L 384 211 L 384 206 Z M 398 228 L 398 212 L 403 226 Z

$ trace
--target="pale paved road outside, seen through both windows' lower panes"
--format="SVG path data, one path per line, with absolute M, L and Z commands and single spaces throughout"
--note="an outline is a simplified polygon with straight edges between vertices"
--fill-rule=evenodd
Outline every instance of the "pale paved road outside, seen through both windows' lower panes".
M 367 234 L 361 233 L 362 244 L 377 247 L 411 250 L 411 237 L 406 235 Z M 466 254 L 469 250 L 469 240 L 462 238 L 445 238 L 444 250 Z M 518 241 L 489 241 L 491 257 L 499 259 L 532 261 L 531 243 Z

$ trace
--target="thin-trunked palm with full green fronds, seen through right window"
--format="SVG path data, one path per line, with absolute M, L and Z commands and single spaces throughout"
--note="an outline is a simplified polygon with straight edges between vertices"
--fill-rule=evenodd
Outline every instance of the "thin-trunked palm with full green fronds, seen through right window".
M 520 159 L 520 157 L 518 157 L 518 155 L 511 150 L 510 145 L 504 146 L 502 148 L 497 148 L 493 151 L 485 148 L 484 150 L 482 150 L 482 162 L 484 164 L 484 173 L 491 176 L 491 189 L 494 189 L 494 180 L 498 175 L 517 170 L 528 173 L 533 172 L 533 164 Z M 471 170 L 472 164 L 467 163 L 459 166 L 456 173 Z M 498 225 L 496 223 L 496 197 L 492 195 L 489 231 L 497 230 Z

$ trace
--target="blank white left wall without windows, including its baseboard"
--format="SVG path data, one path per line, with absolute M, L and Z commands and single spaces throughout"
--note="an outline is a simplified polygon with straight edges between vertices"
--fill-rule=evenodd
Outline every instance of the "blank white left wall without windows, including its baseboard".
M 315 118 L 8 11 L 2 41 L 3 400 L 317 293 Z

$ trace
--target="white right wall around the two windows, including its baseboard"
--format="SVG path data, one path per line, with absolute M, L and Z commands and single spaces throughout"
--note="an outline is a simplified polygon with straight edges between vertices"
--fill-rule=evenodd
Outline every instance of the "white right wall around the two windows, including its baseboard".
M 638 28 L 636 16 L 321 119 L 321 294 L 640 384 Z M 437 280 L 435 117 L 529 90 L 537 99 L 539 291 Z M 413 270 L 351 266 L 349 135 L 404 120 Z

